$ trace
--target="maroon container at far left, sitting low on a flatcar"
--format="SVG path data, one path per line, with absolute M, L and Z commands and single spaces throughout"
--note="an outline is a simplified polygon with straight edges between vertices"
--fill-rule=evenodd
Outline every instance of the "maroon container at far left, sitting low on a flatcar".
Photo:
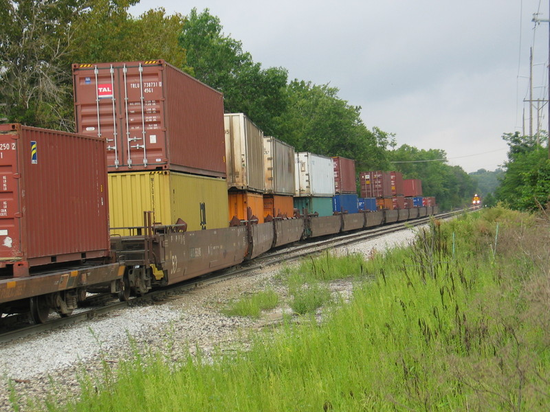
M 105 142 L 0 125 L 0 268 L 109 255 Z

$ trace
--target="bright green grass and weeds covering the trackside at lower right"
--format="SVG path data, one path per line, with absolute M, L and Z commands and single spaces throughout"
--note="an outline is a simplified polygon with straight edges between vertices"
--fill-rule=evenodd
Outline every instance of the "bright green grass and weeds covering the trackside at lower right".
M 353 299 L 322 323 L 287 322 L 248 350 L 181 365 L 136 350 L 117 376 L 83 380 L 78 402 L 47 409 L 550 410 L 549 229 L 502 208 L 434 221 L 412 247 L 351 265 Z M 340 271 L 322 260 L 287 271 L 289 290 Z

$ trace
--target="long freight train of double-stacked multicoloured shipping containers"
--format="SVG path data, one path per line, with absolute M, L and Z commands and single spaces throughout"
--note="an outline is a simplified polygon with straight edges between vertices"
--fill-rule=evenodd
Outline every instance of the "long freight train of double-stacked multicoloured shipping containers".
M 357 195 L 336 194 L 332 172 L 315 175 L 332 159 L 295 155 L 224 115 L 220 93 L 162 60 L 74 65 L 74 84 L 78 133 L 0 125 L 3 316 L 43 323 L 99 288 L 124 301 L 299 240 L 438 212 L 421 198 L 344 209 Z M 329 190 L 316 197 L 316 187 Z M 318 213 L 327 199 L 334 208 Z

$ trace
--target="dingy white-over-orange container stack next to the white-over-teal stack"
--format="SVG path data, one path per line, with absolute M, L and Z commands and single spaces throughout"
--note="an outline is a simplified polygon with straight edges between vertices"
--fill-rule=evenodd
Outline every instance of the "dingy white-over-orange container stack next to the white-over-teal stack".
M 264 218 L 294 216 L 294 156 L 294 148 L 284 141 L 270 136 L 263 138 Z

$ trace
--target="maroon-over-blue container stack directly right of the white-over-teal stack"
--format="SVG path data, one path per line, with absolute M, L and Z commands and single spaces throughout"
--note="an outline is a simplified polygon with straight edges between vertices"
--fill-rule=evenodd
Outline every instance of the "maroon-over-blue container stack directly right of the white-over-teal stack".
M 355 160 L 333 157 L 334 191 L 333 211 L 358 213 L 357 187 L 355 186 Z

